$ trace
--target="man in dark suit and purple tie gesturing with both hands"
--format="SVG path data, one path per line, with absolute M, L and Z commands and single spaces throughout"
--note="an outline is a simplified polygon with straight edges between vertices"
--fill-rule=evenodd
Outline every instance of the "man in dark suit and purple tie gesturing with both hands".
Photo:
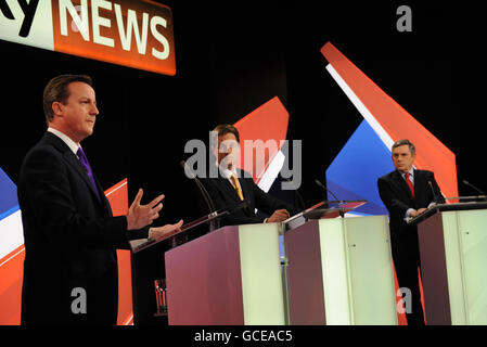
M 116 248 L 158 237 L 177 224 L 148 228 L 164 195 L 141 205 L 139 190 L 127 216 L 113 217 L 80 142 L 99 111 L 92 80 L 61 75 L 46 86 L 49 126 L 27 153 L 18 179 L 25 261 L 22 324 L 116 324 Z

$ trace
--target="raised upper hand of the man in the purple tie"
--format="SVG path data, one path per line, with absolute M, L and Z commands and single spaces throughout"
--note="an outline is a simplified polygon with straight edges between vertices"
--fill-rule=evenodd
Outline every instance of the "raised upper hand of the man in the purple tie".
M 148 205 L 140 204 L 142 195 L 143 190 L 139 189 L 127 214 L 127 230 L 141 229 L 152 224 L 152 221 L 159 217 L 159 210 L 163 208 L 161 201 L 164 198 L 164 194 L 161 194 Z

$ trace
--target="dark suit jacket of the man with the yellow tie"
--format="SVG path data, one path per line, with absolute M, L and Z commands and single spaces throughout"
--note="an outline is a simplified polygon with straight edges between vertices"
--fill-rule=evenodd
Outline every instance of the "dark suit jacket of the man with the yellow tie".
M 221 227 L 264 222 L 265 218 L 256 216 L 256 208 L 269 216 L 277 209 L 282 208 L 287 209 L 291 216 L 300 211 L 293 205 L 264 192 L 257 184 L 255 184 L 254 179 L 247 172 L 244 174 L 244 171 L 238 170 L 238 175 L 242 193 L 247 201 L 247 206 L 242 209 L 236 209 L 229 216 L 223 217 L 220 223 Z M 216 209 L 229 208 L 240 202 L 235 189 L 228 179 L 218 177 L 202 179 L 201 181 L 208 191 Z

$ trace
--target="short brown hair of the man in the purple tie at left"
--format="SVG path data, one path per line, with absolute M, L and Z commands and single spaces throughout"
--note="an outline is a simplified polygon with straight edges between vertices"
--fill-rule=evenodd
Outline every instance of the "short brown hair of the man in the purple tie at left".
M 93 87 L 93 80 L 88 75 L 60 75 L 52 78 L 46 86 L 43 93 L 43 108 L 48 124 L 54 118 L 52 103 L 57 101 L 66 104 L 69 98 L 68 86 L 72 82 L 85 82 Z

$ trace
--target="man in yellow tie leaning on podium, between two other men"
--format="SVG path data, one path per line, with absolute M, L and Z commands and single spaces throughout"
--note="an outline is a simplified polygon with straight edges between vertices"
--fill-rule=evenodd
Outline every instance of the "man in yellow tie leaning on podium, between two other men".
M 239 130 L 232 125 L 219 125 L 214 131 L 218 133 L 218 143 L 212 146 L 218 165 L 218 177 L 202 179 L 216 209 L 235 206 L 246 201 L 246 206 L 232 210 L 221 220 L 221 226 L 238 226 L 261 222 L 280 222 L 300 210 L 264 192 L 248 172 L 235 167 L 235 158 L 240 153 Z M 212 164 L 210 164 L 212 165 Z M 255 209 L 268 214 L 260 218 Z

